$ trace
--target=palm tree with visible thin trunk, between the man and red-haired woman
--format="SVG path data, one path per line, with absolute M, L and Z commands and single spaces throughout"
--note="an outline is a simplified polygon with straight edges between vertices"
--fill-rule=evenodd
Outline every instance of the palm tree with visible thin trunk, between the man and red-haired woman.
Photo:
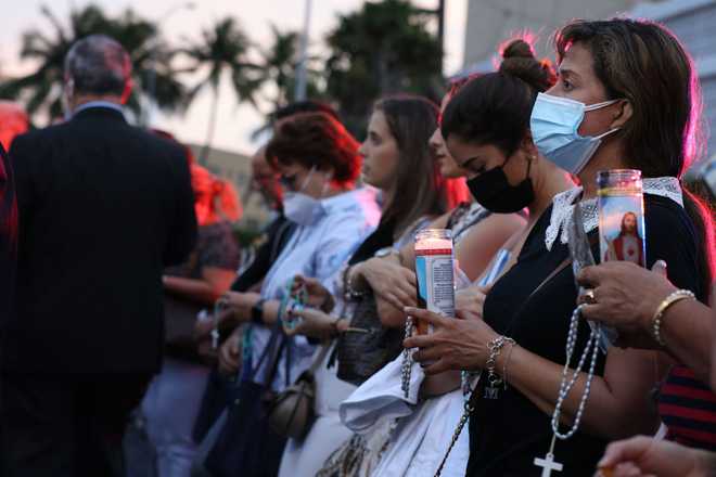
M 200 162 L 206 160 L 214 139 L 219 104 L 219 87 L 222 78 L 226 76 L 231 78 L 231 86 L 238 96 L 239 104 L 248 101 L 254 107 L 257 107 L 255 95 L 264 78 L 261 67 L 248 60 L 250 48 L 248 37 L 241 26 L 233 18 L 227 17 L 218 21 L 210 28 L 204 29 L 200 42 L 182 50 L 193 62 L 194 70 L 207 70 L 204 79 L 190 92 L 190 98 L 195 98 L 196 93 L 207 88 L 212 91 L 206 141 L 200 154 Z

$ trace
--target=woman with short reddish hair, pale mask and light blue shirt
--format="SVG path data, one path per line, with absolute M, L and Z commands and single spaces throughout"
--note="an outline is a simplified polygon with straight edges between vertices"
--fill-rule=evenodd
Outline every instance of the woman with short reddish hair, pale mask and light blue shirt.
M 375 192 L 354 189 L 360 171 L 358 142 L 324 113 L 302 113 L 279 124 L 266 156 L 280 173 L 284 214 L 297 227 L 278 256 L 260 293 L 229 292 L 223 320 L 246 323 L 234 417 L 240 437 L 232 440 L 235 466 L 213 467 L 213 475 L 264 476 L 278 473 L 285 438 L 269 429 L 266 396 L 281 391 L 306 371 L 316 347 L 303 336 L 286 337 L 277 324 L 281 300 L 296 275 L 330 280 L 380 219 Z M 266 354 L 265 354 L 266 353 Z M 278 360 L 261 360 L 263 356 Z M 272 378 L 271 378 L 272 377 Z M 236 417 L 238 416 L 238 417 Z M 228 457 L 227 457 L 228 459 Z M 226 463 L 226 461 L 225 461 Z

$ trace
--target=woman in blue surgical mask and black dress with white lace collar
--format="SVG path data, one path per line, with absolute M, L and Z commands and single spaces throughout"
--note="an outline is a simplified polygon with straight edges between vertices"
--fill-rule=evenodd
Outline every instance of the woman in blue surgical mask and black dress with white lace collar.
M 591 475 L 608 440 L 659 427 L 650 396 L 664 375 L 660 364 L 666 354 L 612 347 L 605 358 L 600 353 L 590 386 L 587 373 L 577 375 L 561 402 L 560 430 L 566 433 L 575 421 L 580 425 L 571 438 L 551 446 L 552 414 L 577 298 L 565 231 L 573 204 L 580 202 L 586 231 L 590 236 L 597 233 L 598 170 L 641 169 L 648 267 L 666 260 L 669 279 L 701 300 L 712 276 L 713 246 L 704 232 L 708 228 L 702 216 L 691 214 L 694 202 L 679 181 L 691 158 L 698 98 L 691 88 L 694 72 L 678 40 L 659 25 L 624 18 L 575 22 L 555 38 L 560 77 L 549 96 L 536 99 L 532 139 L 540 155 L 577 175 L 584 189 L 559 194 L 538 218 L 517 262 L 487 295 L 484 321 L 446 320 L 410 310 L 435 326 L 433 335 L 406 341 L 423 348 L 417 359 L 436 361 L 429 373 L 488 369 L 483 374 L 500 384 L 497 391 L 484 383 L 478 388 L 484 394 L 470 420 L 469 476 L 539 476 L 549 475 L 550 467 L 559 468 L 560 476 Z M 450 147 L 450 131 L 444 136 Z M 503 166 L 506 173 L 515 167 L 509 166 L 512 160 Z M 599 301 L 599 294 L 592 299 Z M 588 335 L 588 324 L 578 322 L 575 354 L 581 354 Z M 696 386 L 693 376 L 677 371 L 682 384 Z M 581 401 L 586 392 L 588 400 Z M 679 411 L 686 400 L 681 396 L 662 407 L 667 425 L 669 413 L 687 416 Z M 713 403 L 707 400 L 704 405 L 711 409 Z M 696 429 L 713 426 L 708 421 L 691 423 L 689 429 L 675 425 L 674 430 L 682 430 L 681 438 L 704 436 Z

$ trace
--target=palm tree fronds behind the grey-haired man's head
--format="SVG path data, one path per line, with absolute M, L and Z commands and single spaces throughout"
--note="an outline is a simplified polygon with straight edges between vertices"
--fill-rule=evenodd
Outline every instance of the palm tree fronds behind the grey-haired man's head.
M 24 77 L 0 83 L 0 98 L 25 99 L 30 114 L 47 113 L 50 120 L 62 114 L 61 94 L 64 83 L 64 59 L 72 44 L 88 35 L 104 34 L 119 41 L 128 51 L 133 65 L 133 82 L 138 86 L 128 105 L 139 115 L 141 96 L 145 94 L 148 69 L 156 66 L 157 105 L 167 112 L 181 109 L 186 104 L 186 89 L 172 69 L 174 52 L 161 39 L 154 24 L 126 10 L 116 18 L 107 17 L 97 5 L 72 10 L 68 25 L 47 8 L 42 15 L 52 25 L 52 35 L 38 29 L 23 34 L 21 59 L 35 61 L 37 69 Z M 150 52 L 154 51 L 155 64 Z

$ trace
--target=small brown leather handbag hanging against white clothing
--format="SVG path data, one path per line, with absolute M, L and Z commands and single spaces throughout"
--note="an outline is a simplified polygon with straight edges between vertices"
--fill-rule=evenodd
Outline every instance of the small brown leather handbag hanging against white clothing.
M 329 347 L 330 345 L 324 345 L 310 368 L 268 404 L 266 413 L 269 426 L 276 434 L 297 440 L 302 440 L 308 434 L 316 418 L 315 374 L 325 359 Z

